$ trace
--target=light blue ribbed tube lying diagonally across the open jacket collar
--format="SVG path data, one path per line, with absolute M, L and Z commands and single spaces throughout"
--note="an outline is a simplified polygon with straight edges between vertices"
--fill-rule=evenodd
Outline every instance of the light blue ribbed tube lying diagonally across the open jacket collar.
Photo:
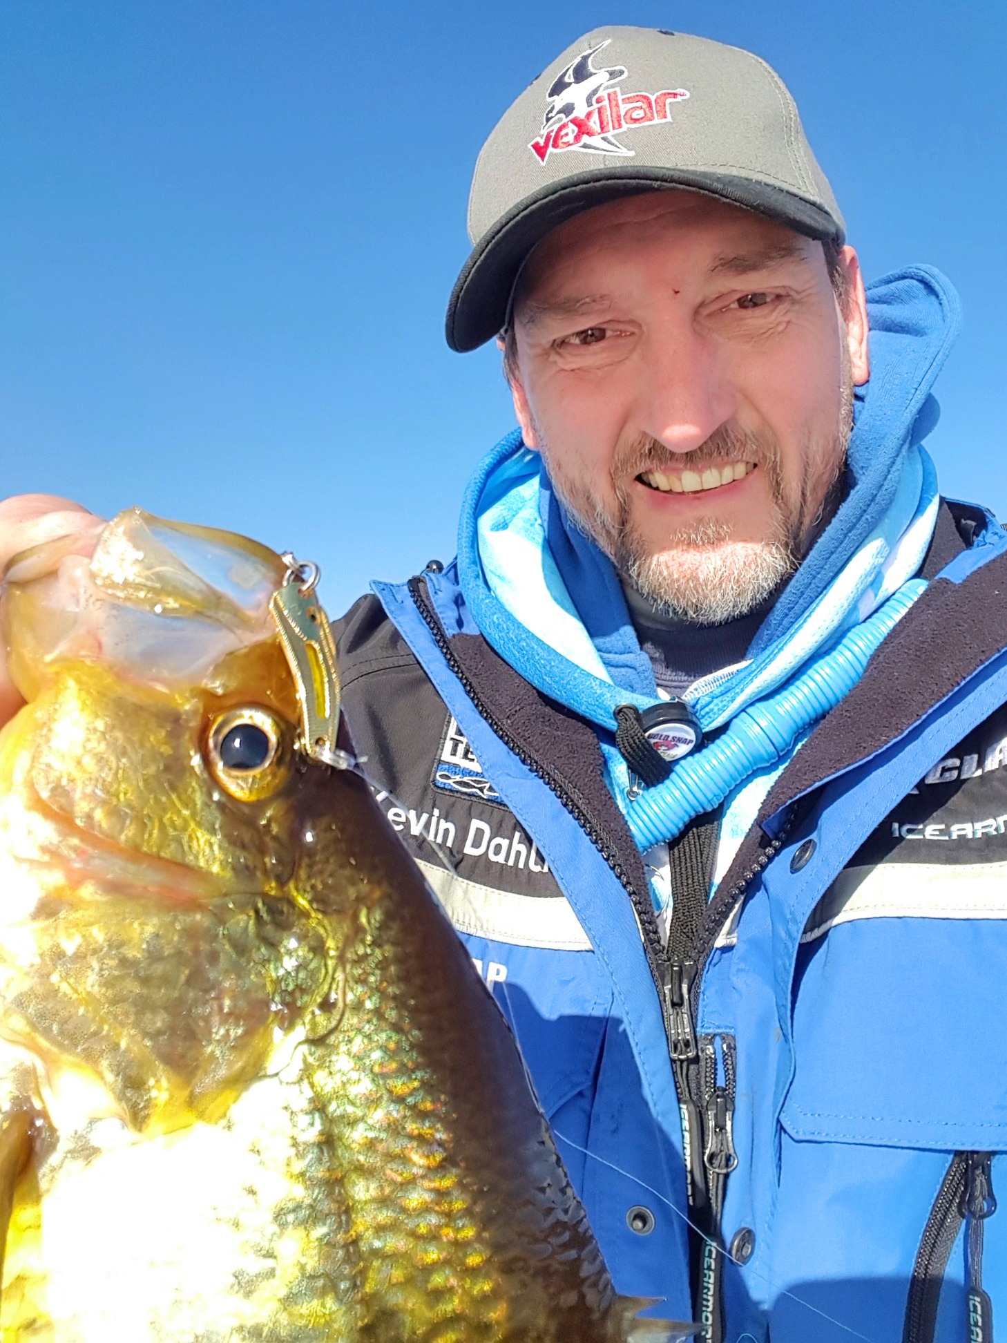
M 718 807 L 757 770 L 783 760 L 798 735 L 853 690 L 870 655 L 925 590 L 924 579 L 904 583 L 796 681 L 742 709 L 722 736 L 679 760 L 670 779 L 632 802 L 627 821 L 640 851 L 674 839 L 693 817 Z

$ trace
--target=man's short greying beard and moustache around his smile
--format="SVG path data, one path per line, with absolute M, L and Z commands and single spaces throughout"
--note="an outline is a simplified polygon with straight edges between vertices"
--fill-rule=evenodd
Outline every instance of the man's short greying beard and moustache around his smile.
M 838 504 L 838 485 L 853 424 L 853 383 L 845 380 L 839 423 L 824 439 L 808 439 L 803 477 L 787 490 L 776 438 L 721 426 L 694 451 L 670 453 L 653 438 L 616 449 L 607 504 L 588 482 L 567 474 L 538 434 L 549 478 L 567 513 L 612 560 L 659 615 L 696 624 L 724 624 L 761 606 L 794 573 L 818 530 Z M 755 462 L 765 474 L 772 500 L 767 533 L 756 541 L 733 536 L 728 522 L 700 517 L 670 529 L 654 549 L 632 520 L 631 486 L 642 471 L 682 469 L 702 474 L 713 462 Z

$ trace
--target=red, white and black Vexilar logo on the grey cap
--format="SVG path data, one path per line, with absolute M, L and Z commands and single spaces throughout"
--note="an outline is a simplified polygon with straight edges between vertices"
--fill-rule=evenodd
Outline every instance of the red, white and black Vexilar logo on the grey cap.
M 565 149 L 631 158 L 634 150 L 615 138 L 616 132 L 670 121 L 670 105 L 689 97 L 686 89 L 630 94 L 615 89 L 614 85 L 628 74 L 626 66 L 608 66 L 604 70 L 593 66 L 593 58 L 611 40 L 607 38 L 589 51 L 583 51 L 549 85 L 549 106 L 542 118 L 542 133 L 528 146 L 541 163 L 549 154 Z

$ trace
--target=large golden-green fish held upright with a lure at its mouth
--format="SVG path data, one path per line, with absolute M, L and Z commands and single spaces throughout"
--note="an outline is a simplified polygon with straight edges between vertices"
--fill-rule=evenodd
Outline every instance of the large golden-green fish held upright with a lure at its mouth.
M 0 1336 L 691 1336 L 352 767 L 316 577 L 141 509 L 8 564 Z

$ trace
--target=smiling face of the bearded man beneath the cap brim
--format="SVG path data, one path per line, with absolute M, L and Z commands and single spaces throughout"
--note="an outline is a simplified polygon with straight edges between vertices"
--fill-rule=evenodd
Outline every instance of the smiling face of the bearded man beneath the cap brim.
M 832 505 L 867 379 L 855 254 L 839 310 L 822 244 L 694 192 L 600 205 L 533 252 L 514 309 L 525 442 L 659 610 L 764 600 Z M 830 493 L 831 492 L 831 493 Z

